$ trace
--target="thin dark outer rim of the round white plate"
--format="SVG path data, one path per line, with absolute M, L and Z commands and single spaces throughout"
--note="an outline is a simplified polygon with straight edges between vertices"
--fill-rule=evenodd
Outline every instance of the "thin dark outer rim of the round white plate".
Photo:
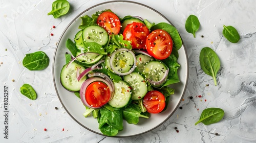
M 106 136 L 106 135 L 104 135 L 104 134 L 102 134 L 102 133 L 99 133 L 99 132 L 96 132 L 96 131 L 94 131 L 94 130 L 91 130 L 90 128 L 88 128 L 88 127 L 82 125 L 82 124 L 81 124 L 79 121 L 77 121 L 76 118 L 69 112 L 69 110 L 67 110 L 66 106 L 63 104 L 63 102 L 62 102 L 62 100 L 61 100 L 61 98 L 60 98 L 60 96 L 59 96 L 59 94 L 58 94 L 58 89 L 57 89 L 57 87 L 56 87 L 56 80 L 55 80 L 55 75 L 54 75 L 54 65 L 55 65 L 56 53 L 57 53 L 57 50 L 58 50 L 58 47 L 59 47 L 60 40 L 61 40 L 61 38 L 63 37 L 63 35 L 65 34 L 65 32 L 68 30 L 68 28 L 70 27 L 70 25 L 71 25 L 78 17 L 80 17 L 83 13 L 85 13 L 86 11 L 89 11 L 89 10 L 92 9 L 92 8 L 95 8 L 95 7 L 100 6 L 100 5 L 108 4 L 108 3 L 133 3 L 133 4 L 141 5 L 141 6 L 143 6 L 143 7 L 146 7 L 146 8 L 148 8 L 148 9 L 151 9 L 151 10 L 155 11 L 155 12 L 158 13 L 160 16 L 162 16 L 166 21 L 168 21 L 171 25 L 173 25 L 173 23 L 170 22 L 170 20 L 169 20 L 168 18 L 166 18 L 162 13 L 160 13 L 160 12 L 157 11 L 156 9 L 154 9 L 154 8 L 152 8 L 152 7 L 150 7 L 150 6 L 147 6 L 147 5 L 145 5 L 145 4 L 141 4 L 141 3 L 133 2 L 133 1 L 109 1 L 109 2 L 102 2 L 102 3 L 99 3 L 99 4 L 93 5 L 93 6 L 89 7 L 89 8 L 87 8 L 86 10 L 83 10 L 83 11 L 80 12 L 75 18 L 73 18 L 73 19 L 70 21 L 70 23 L 66 26 L 66 28 L 65 28 L 65 29 L 63 30 L 63 32 L 61 33 L 61 35 L 60 35 L 60 37 L 59 37 L 59 39 L 58 39 L 58 43 L 57 43 L 57 45 L 56 45 L 56 49 L 55 49 L 54 54 L 53 54 L 53 64 L 52 64 L 52 76 L 53 76 L 53 83 L 54 83 L 54 88 L 55 88 L 56 94 L 57 94 L 57 96 L 58 96 L 58 99 L 59 99 L 59 101 L 60 101 L 62 107 L 67 111 L 67 113 L 71 116 L 71 118 L 72 118 L 76 123 L 78 123 L 81 127 L 85 128 L 85 129 L 87 129 L 87 130 L 89 130 L 89 131 L 91 131 L 91 132 L 93 132 L 93 133 L 96 133 L 96 134 L 98 134 L 98 135 L 102 135 L 102 136 Z M 174 25 L 173 25 L 173 26 L 174 26 Z M 174 26 L 174 27 L 175 27 L 175 26 Z M 181 36 L 180 36 L 180 37 L 181 37 Z M 182 39 L 182 37 L 181 37 L 181 39 Z M 185 56 L 186 56 L 186 65 L 187 65 L 186 75 L 187 75 L 187 77 L 186 77 L 186 79 L 185 79 L 184 91 L 183 91 L 183 93 L 182 93 L 181 100 L 180 100 L 179 103 L 177 104 L 178 106 L 175 107 L 174 111 L 173 111 L 172 113 L 170 113 L 162 123 L 160 123 L 159 125 L 155 126 L 154 128 L 152 128 L 152 129 L 150 129 L 150 130 L 147 130 L 147 131 L 144 131 L 144 132 L 135 134 L 135 135 L 126 135 L 126 136 L 116 135 L 116 136 L 113 136 L 113 137 L 133 137 L 133 136 L 138 136 L 138 135 L 141 135 L 141 134 L 150 132 L 150 131 L 156 129 L 157 127 L 159 127 L 160 125 L 162 125 L 163 123 L 165 123 L 165 122 L 170 118 L 170 116 L 172 116 L 172 115 L 175 113 L 175 111 L 178 109 L 178 107 L 179 107 L 179 105 L 180 105 L 180 103 L 181 103 L 181 101 L 182 101 L 182 99 L 183 99 L 183 97 L 184 97 L 184 95 L 185 95 L 186 88 L 187 88 L 188 77 L 189 77 L 189 76 L 188 76 L 188 74 L 189 74 L 188 57 L 187 57 L 187 51 L 186 51 L 186 48 L 185 48 L 183 39 L 182 39 L 182 45 L 183 45 L 183 47 L 184 47 L 184 52 L 185 52 Z

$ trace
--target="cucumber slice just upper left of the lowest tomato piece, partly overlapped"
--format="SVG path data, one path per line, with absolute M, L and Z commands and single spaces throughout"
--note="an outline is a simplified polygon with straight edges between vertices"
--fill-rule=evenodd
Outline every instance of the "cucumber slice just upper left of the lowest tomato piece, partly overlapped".
M 138 73 L 131 73 L 123 77 L 123 80 L 132 87 L 132 100 L 140 100 L 147 93 L 145 78 Z

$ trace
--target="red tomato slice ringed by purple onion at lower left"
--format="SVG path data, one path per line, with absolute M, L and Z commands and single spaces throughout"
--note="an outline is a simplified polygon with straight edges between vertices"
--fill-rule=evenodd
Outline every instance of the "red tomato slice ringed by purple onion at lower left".
M 110 101 L 110 88 L 103 82 L 95 81 L 88 85 L 85 96 L 89 105 L 101 107 Z

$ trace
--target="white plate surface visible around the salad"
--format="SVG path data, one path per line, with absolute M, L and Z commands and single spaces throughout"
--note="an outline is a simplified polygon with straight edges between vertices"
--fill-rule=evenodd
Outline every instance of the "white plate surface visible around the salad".
M 53 59 L 53 80 L 55 89 L 58 95 L 58 98 L 62 104 L 62 106 L 66 109 L 69 115 L 82 127 L 102 135 L 100 130 L 98 129 L 97 120 L 93 117 L 85 118 L 83 116 L 84 111 L 86 110 L 74 93 L 65 90 L 59 81 L 60 71 L 63 65 L 65 65 L 65 53 L 69 52 L 65 46 L 66 40 L 68 38 L 74 39 L 75 34 L 79 31 L 78 26 L 81 23 L 81 19 L 79 18 L 81 15 L 89 15 L 91 16 L 96 11 L 111 9 L 114 13 L 116 13 L 120 17 L 124 17 L 126 15 L 132 16 L 140 16 L 142 18 L 147 19 L 151 22 L 168 22 L 170 21 L 165 18 L 162 14 L 157 12 L 156 10 L 145 6 L 143 4 L 135 3 L 135 2 L 126 2 L 126 1 L 112 1 L 101 3 L 95 5 L 87 10 L 84 10 L 81 14 L 76 16 L 65 31 L 62 33 L 58 45 L 54 54 Z M 70 52 L 69 52 L 70 53 Z M 146 133 L 155 129 L 156 127 L 163 124 L 170 116 L 173 115 L 175 110 L 178 108 L 187 85 L 188 79 L 188 60 L 186 50 L 184 46 L 179 50 L 179 64 L 181 67 L 178 70 L 180 83 L 172 85 L 172 88 L 175 89 L 175 94 L 173 94 L 170 98 L 170 102 L 168 104 L 168 109 L 160 114 L 152 114 L 149 119 L 140 118 L 140 122 L 137 125 L 127 124 L 126 121 L 123 121 L 123 130 L 119 131 L 116 137 L 128 137 Z

